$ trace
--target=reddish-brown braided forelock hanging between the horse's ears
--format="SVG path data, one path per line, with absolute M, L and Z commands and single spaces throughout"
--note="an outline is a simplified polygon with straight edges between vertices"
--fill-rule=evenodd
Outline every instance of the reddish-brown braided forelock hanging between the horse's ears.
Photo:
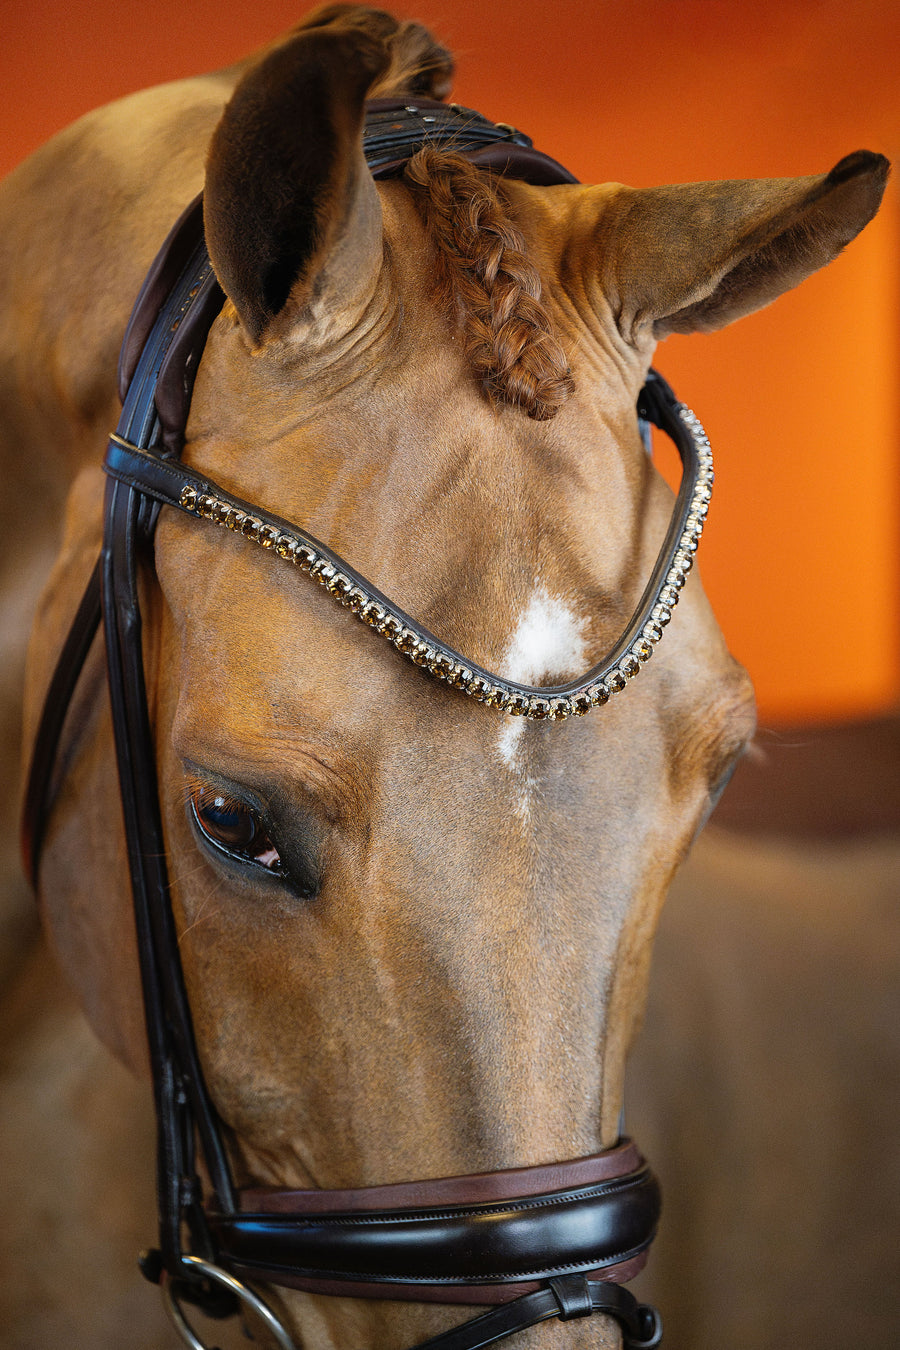
M 541 278 L 491 177 L 461 155 L 420 150 L 405 170 L 437 248 L 441 289 L 493 401 L 555 417 L 575 389 Z

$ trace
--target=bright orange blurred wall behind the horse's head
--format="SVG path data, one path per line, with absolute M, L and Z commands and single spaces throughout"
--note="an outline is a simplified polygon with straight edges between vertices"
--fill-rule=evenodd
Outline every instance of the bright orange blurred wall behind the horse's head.
M 895 0 L 421 0 L 457 101 L 526 130 L 584 181 L 820 173 L 900 151 Z M 0 171 L 96 104 L 213 69 L 302 0 L 8 5 Z M 718 448 L 702 572 L 772 722 L 900 701 L 896 185 L 827 271 L 657 364 Z

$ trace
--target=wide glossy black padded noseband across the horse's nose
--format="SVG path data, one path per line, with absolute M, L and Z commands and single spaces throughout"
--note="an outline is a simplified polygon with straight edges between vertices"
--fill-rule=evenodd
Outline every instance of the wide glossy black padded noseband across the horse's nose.
M 599 1272 L 607 1280 L 629 1278 L 640 1269 L 658 1222 L 658 1185 L 633 1146 L 610 1152 L 629 1161 L 636 1156 L 638 1165 L 594 1184 L 532 1193 L 532 1169 L 521 1169 L 525 1193 L 468 1203 L 348 1210 L 341 1192 L 325 1191 L 318 1193 L 317 1211 L 304 1212 L 300 1207 L 286 1211 L 290 1193 L 275 1193 L 267 1210 L 210 1212 L 209 1222 L 229 1269 L 256 1280 L 305 1289 L 324 1281 L 322 1292 L 358 1296 L 364 1285 L 368 1297 L 507 1301 L 555 1276 Z M 561 1177 L 567 1168 L 584 1172 L 598 1161 L 603 1170 L 604 1154 L 533 1170 L 538 1177 L 545 1172 Z M 503 1176 L 413 1187 L 420 1193 L 430 1188 L 434 1197 L 482 1188 L 490 1193 Z M 252 1195 L 242 1195 L 242 1210 Z M 255 1195 L 264 1200 L 260 1192 Z

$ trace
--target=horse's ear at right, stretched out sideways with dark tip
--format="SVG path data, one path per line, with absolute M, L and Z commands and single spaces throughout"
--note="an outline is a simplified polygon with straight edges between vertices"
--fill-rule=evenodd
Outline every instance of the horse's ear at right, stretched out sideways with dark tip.
M 831 262 L 878 209 L 889 165 L 860 150 L 828 174 L 622 188 L 594 248 L 622 332 L 710 332 Z

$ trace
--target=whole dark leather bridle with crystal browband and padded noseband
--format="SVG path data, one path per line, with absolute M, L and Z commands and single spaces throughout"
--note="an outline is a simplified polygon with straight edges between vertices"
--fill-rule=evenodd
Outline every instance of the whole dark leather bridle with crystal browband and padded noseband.
M 422 143 L 533 182 L 573 182 L 521 132 L 430 100 L 374 100 L 364 150 L 375 177 Z M 247 1280 L 339 1296 L 491 1305 L 416 1350 L 478 1350 L 548 1318 L 614 1316 L 630 1350 L 660 1343 L 658 1315 L 622 1288 L 656 1233 L 656 1179 L 627 1139 L 545 1166 L 360 1191 L 237 1189 L 194 1042 L 169 898 L 157 767 L 142 660 L 138 567 L 161 505 L 239 532 L 308 572 L 343 606 L 432 676 L 507 714 L 559 721 L 623 690 L 653 655 L 691 567 L 712 481 L 694 413 L 654 371 L 641 393 L 673 439 L 683 482 L 672 524 L 623 637 L 583 679 L 536 688 L 491 675 L 382 595 L 302 528 L 242 501 L 181 464 L 184 429 L 209 327 L 224 296 L 188 208 L 154 262 L 120 359 L 123 412 L 105 458 L 104 544 L 47 694 L 27 784 L 23 846 L 36 883 L 51 778 L 66 709 L 103 620 L 138 952 L 158 1122 L 159 1246 L 142 1257 L 163 1285 L 185 1342 L 202 1350 L 182 1304 L 213 1315 L 254 1308 L 285 1350 L 294 1342 Z M 209 1191 L 197 1170 L 200 1148 Z

